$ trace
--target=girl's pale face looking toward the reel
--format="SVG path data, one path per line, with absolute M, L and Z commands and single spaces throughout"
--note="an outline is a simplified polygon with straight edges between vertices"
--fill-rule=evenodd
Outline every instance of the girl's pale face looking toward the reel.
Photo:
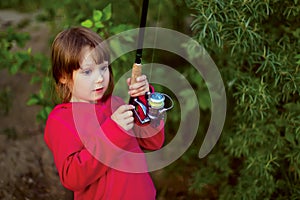
M 96 103 L 109 85 L 108 62 L 97 63 L 97 53 L 90 47 L 82 50 L 80 68 L 73 71 L 71 102 Z

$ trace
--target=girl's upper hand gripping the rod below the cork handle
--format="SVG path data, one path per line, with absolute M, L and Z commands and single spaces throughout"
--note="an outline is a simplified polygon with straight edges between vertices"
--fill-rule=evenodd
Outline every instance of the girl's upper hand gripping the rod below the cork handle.
M 127 79 L 127 85 L 129 87 L 128 94 L 131 97 L 137 97 L 145 95 L 146 92 L 149 92 L 149 83 L 146 75 L 141 75 L 136 78 L 136 83 L 130 85 L 131 78 Z

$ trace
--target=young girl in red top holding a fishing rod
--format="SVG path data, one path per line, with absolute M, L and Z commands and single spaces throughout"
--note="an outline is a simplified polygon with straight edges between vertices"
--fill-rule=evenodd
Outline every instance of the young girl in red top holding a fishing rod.
M 56 36 L 52 73 L 62 103 L 50 113 L 44 139 L 61 183 L 74 192 L 74 199 L 153 200 L 154 184 L 146 170 L 138 169 L 145 159 L 134 162 L 126 153 L 144 155 L 142 149 L 161 148 L 163 121 L 158 127 L 136 125 L 133 106 L 112 95 L 112 69 L 101 42 L 83 27 Z M 132 85 L 130 81 L 130 96 L 143 98 L 149 91 L 145 75 Z

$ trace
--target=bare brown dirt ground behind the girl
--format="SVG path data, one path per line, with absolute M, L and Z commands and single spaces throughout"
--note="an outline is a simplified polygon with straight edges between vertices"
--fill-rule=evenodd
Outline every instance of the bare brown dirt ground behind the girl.
M 22 20 L 30 22 L 22 29 L 31 35 L 27 46 L 33 52 L 48 53 L 47 25 L 36 22 L 34 14 L 0 11 L 1 29 Z M 60 185 L 52 155 L 43 141 L 43 125 L 36 123 L 39 107 L 26 106 L 38 85 L 29 84 L 30 77 L 24 74 L 11 76 L 6 70 L 0 70 L 0 76 L 0 88 L 11 91 L 12 105 L 7 115 L 0 114 L 0 199 L 72 199 L 72 194 Z M 184 175 L 166 178 L 163 171 L 152 175 L 158 185 L 159 200 L 198 199 L 187 196 L 189 180 Z

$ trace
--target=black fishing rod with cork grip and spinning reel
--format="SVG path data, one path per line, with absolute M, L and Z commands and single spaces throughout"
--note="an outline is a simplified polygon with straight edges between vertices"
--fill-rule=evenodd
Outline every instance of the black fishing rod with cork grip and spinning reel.
M 148 5 L 149 0 L 143 0 L 135 63 L 132 66 L 131 84 L 136 83 L 136 78 L 142 75 L 142 53 Z M 140 124 L 153 122 L 154 126 L 158 126 L 160 120 L 164 118 L 166 111 L 173 107 L 173 100 L 166 94 L 151 90 L 145 94 L 144 99 L 146 101 L 143 101 L 139 97 L 130 97 L 129 99 L 129 103 L 135 107 L 133 109 L 135 121 Z M 171 106 L 165 107 L 166 99 L 169 99 Z

